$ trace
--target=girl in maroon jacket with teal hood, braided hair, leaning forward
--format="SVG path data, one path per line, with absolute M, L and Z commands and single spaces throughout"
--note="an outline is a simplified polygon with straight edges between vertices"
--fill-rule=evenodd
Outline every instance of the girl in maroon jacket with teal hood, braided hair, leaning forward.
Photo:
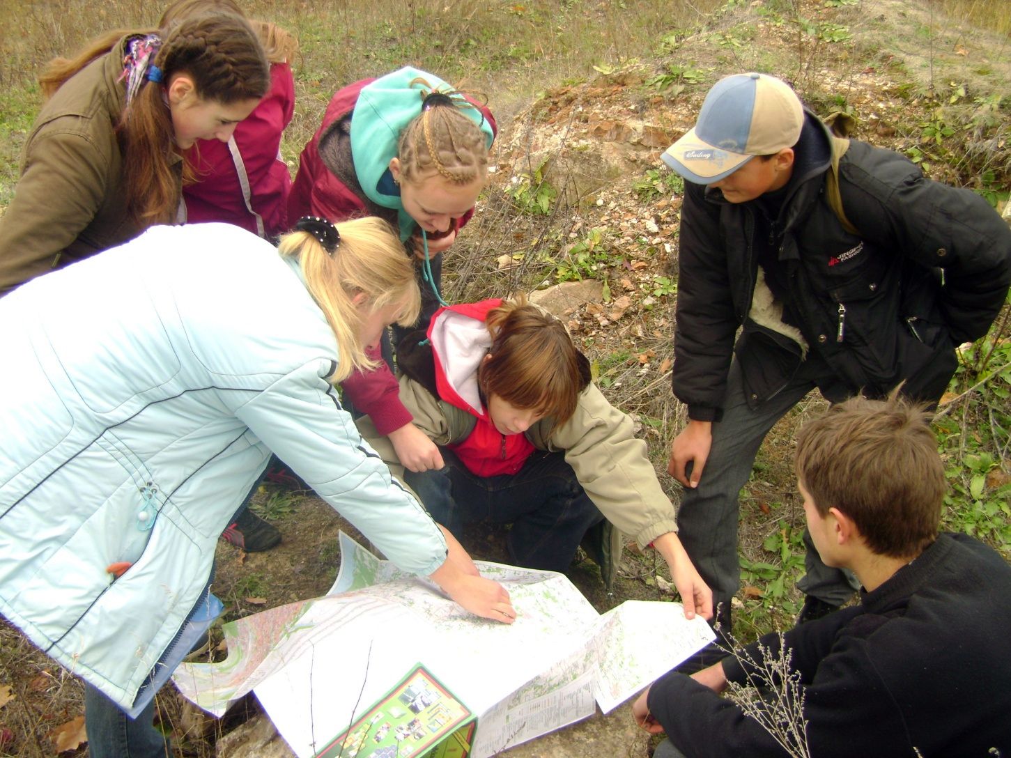
M 440 254 L 473 212 L 494 134 L 486 107 L 427 72 L 407 67 L 356 82 L 334 96 L 302 151 L 288 212 L 331 219 L 377 215 L 396 225 L 424 280 L 418 325 L 425 327 L 441 305 Z M 407 330 L 394 329 L 394 342 Z M 386 364 L 349 377 L 345 396 L 390 437 L 407 468 L 441 468 L 438 448 L 399 400 L 391 351 L 388 344 L 383 348 Z

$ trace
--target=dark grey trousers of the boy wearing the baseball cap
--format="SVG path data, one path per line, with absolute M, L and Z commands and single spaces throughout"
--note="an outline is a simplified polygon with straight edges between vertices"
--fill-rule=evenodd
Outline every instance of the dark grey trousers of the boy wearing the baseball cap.
M 677 510 L 678 537 L 702 578 L 713 589 L 713 604 L 726 603 L 740 586 L 737 557 L 738 493 L 751 476 L 751 467 L 772 425 L 816 386 L 804 368 L 778 393 L 752 410 L 744 397 L 741 367 L 735 359 L 727 375 L 723 418 L 713 423 L 710 449 L 702 479 L 683 490 Z M 829 568 L 806 539 L 807 575 L 797 583 L 832 605 L 848 600 L 858 582 L 849 572 Z

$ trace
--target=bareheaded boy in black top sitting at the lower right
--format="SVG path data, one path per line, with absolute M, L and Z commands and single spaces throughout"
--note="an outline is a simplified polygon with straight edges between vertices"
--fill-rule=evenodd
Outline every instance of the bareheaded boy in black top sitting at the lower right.
M 667 733 L 654 758 L 1011 755 L 1011 566 L 937 535 L 946 487 L 926 421 L 894 395 L 854 397 L 801 430 L 808 527 L 827 565 L 856 574 L 860 603 L 658 679 L 633 705 Z M 719 696 L 728 681 L 784 693 L 798 729 L 775 740 Z M 768 695 L 759 708 L 766 725 L 789 709 Z

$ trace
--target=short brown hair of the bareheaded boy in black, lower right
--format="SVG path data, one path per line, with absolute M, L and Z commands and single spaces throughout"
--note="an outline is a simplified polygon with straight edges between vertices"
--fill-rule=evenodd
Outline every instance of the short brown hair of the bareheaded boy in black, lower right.
M 841 510 L 878 555 L 919 555 L 937 537 L 947 487 L 929 420 L 893 393 L 853 397 L 806 423 L 797 476 L 818 512 Z

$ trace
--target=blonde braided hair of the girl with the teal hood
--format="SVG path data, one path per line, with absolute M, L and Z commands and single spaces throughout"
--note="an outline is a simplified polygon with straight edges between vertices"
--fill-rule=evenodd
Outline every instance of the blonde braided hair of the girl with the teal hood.
M 460 112 L 455 99 L 446 101 L 426 106 L 400 133 L 397 157 L 405 181 L 420 181 L 432 172 L 457 185 L 484 177 L 488 168 L 484 132 Z

